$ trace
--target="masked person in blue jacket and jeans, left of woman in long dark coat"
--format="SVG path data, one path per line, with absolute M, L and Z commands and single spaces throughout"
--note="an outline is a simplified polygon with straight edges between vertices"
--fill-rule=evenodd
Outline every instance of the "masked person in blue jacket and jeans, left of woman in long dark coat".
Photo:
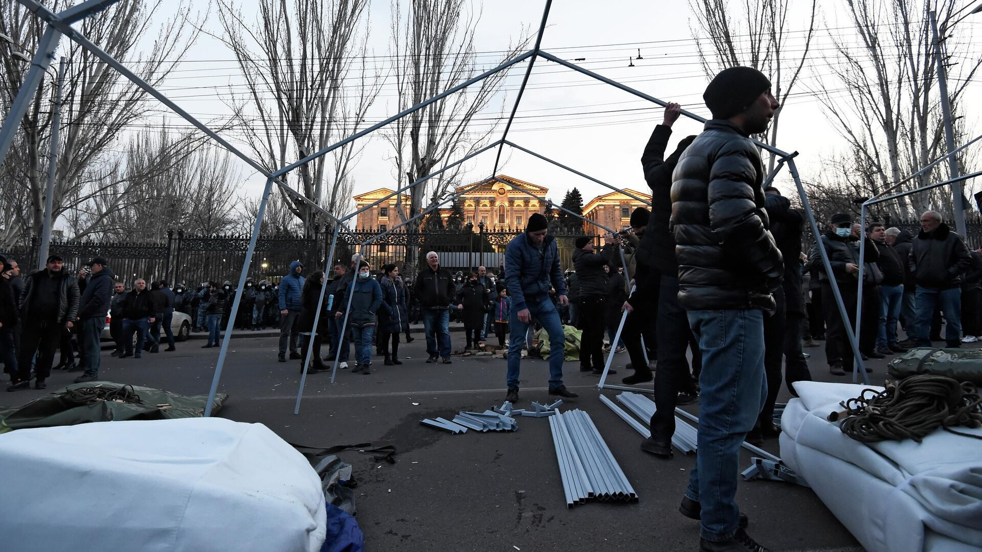
M 355 360 L 357 362 L 352 373 L 367 375 L 371 373 L 371 348 L 375 342 L 376 313 L 379 308 L 383 309 L 385 316 L 391 316 L 392 312 L 389 305 L 382 302 L 382 287 L 379 286 L 377 280 L 371 277 L 368 263 L 363 260 L 358 263 L 357 278 L 355 278 L 352 288 L 338 291 L 342 296 L 341 302 L 338 304 L 339 310 L 334 316 L 341 320 L 344 320 L 345 308 L 348 308 L 347 295 L 349 293 L 354 294 L 351 313 L 348 316 L 348 325 L 352 329 L 352 340 L 355 342 Z M 335 300 L 337 299 L 336 297 Z

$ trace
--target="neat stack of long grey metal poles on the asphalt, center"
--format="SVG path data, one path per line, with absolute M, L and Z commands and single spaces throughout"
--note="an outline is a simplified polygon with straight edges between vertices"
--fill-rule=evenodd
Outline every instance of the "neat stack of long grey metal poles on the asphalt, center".
M 588 500 L 637 500 L 627 475 L 588 414 L 578 410 L 557 413 L 549 416 L 549 427 L 568 508 Z

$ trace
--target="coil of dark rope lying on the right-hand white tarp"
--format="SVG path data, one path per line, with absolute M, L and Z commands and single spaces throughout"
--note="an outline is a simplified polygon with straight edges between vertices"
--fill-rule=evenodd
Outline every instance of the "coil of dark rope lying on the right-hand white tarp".
M 913 439 L 918 443 L 938 427 L 946 431 L 982 439 L 951 429 L 953 426 L 982 427 L 982 397 L 969 382 L 943 375 L 917 374 L 888 384 L 881 392 L 864 389 L 859 397 L 842 403 L 846 419 L 842 430 L 863 443 Z

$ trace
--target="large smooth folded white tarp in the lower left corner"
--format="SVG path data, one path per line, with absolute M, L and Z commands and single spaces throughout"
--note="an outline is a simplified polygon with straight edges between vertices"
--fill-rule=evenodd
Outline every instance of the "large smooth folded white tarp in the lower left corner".
M 0 550 L 315 551 L 317 473 L 260 423 L 106 421 L 0 435 Z

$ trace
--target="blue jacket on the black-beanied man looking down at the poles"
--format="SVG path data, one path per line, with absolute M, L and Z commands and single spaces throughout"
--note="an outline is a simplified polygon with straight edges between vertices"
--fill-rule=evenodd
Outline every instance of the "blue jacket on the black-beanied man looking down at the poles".
M 512 239 L 505 248 L 505 280 L 512 307 L 518 310 L 527 308 L 526 302 L 548 300 L 550 287 L 557 295 L 567 295 L 556 239 L 547 234 L 541 251 L 524 232 Z

